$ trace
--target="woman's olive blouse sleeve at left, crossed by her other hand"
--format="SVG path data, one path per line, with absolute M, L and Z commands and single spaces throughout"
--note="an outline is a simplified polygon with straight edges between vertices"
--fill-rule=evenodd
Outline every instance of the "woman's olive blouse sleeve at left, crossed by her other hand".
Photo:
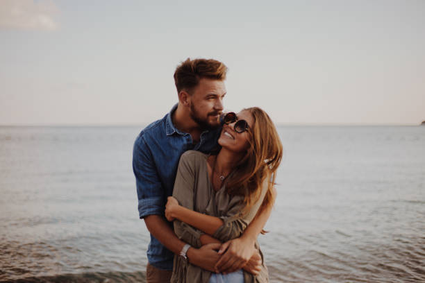
M 195 170 L 194 164 L 195 155 L 184 153 L 178 162 L 176 180 L 174 182 L 173 196 L 178 201 L 178 204 L 188 209 L 194 210 L 194 184 Z M 199 239 L 203 232 L 179 220 L 174 220 L 174 233 L 176 236 L 189 243 L 195 248 L 200 248 L 201 240 Z

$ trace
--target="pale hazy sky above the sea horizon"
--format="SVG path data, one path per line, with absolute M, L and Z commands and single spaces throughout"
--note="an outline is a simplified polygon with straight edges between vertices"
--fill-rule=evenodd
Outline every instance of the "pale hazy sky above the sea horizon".
M 0 125 L 146 124 L 186 58 L 279 124 L 425 120 L 425 1 L 0 0 Z

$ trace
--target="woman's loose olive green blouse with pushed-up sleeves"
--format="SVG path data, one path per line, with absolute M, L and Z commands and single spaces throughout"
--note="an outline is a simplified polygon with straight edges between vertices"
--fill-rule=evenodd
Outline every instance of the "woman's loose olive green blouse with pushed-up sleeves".
M 267 182 L 263 185 L 263 191 L 260 199 L 251 207 L 249 212 L 242 215 L 244 208 L 243 196 L 231 196 L 226 193 L 226 187 L 223 186 L 218 191 L 213 189 L 208 176 L 207 167 L 208 155 L 199 151 L 186 151 L 181 155 L 178 164 L 176 181 L 174 183 L 173 196 L 183 207 L 192 209 L 196 212 L 208 214 L 222 218 L 223 225 L 213 234 L 215 239 L 225 242 L 240 237 L 252 221 L 254 216 L 263 203 L 265 193 L 267 191 Z M 201 241 L 199 237 L 203 232 L 196 228 L 183 223 L 174 221 L 174 232 L 177 237 L 194 248 L 200 248 Z M 258 248 L 258 243 L 256 243 Z M 261 257 L 263 254 L 260 252 Z M 198 266 L 194 266 L 182 257 L 174 255 L 173 275 L 171 282 L 207 283 L 210 279 L 211 272 L 206 271 Z M 244 271 L 244 282 L 268 282 L 267 268 L 264 264 L 260 274 L 253 276 Z

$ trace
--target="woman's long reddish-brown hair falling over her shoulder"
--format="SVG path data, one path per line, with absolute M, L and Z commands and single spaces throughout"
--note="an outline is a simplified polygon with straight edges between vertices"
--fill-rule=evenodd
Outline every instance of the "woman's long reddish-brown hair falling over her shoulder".
M 235 166 L 231 178 L 226 180 L 226 190 L 231 195 L 244 196 L 244 212 L 249 211 L 260 198 L 263 182 L 267 192 L 259 211 L 273 205 L 276 169 L 281 163 L 283 146 L 272 119 L 258 107 L 244 109 L 251 113 L 254 123 L 249 128 L 247 154 Z

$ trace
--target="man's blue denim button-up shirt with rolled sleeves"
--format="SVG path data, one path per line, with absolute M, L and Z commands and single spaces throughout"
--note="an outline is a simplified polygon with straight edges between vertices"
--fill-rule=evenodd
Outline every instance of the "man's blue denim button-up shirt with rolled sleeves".
M 192 137 L 177 130 L 172 123 L 172 110 L 163 119 L 151 123 L 138 135 L 133 148 L 133 172 L 138 191 L 140 218 L 156 214 L 165 217 L 167 197 L 172 196 L 178 160 L 188 150 L 210 153 L 217 148 L 221 128 L 201 133 L 198 144 Z M 165 219 L 165 221 L 167 221 Z M 169 223 L 172 227 L 172 223 Z M 149 264 L 172 270 L 174 254 L 151 234 L 147 250 Z

